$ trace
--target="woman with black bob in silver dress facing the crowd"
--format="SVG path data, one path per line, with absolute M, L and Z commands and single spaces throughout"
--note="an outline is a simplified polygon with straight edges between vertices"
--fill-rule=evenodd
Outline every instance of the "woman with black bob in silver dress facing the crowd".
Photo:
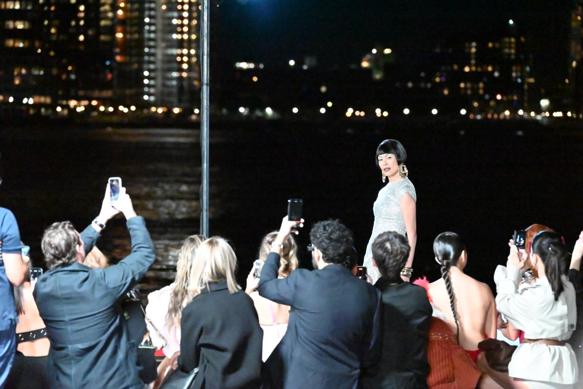
M 378 234 L 385 231 L 395 231 L 407 237 L 411 251 L 402 270 L 403 281 L 409 281 L 413 271 L 417 243 L 417 194 L 415 186 L 408 178 L 406 160 L 407 152 L 398 140 L 386 139 L 377 147 L 377 167 L 381 170 L 382 182 L 388 180 L 388 183 L 378 192 L 377 201 L 374 202 L 373 233 L 364 253 L 363 266 L 367 267 L 373 282 L 377 282 L 381 276 L 373 266 L 373 242 Z

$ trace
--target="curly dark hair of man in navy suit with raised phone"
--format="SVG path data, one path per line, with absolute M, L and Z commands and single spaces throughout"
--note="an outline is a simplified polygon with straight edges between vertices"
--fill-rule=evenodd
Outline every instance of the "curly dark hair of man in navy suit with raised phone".
M 352 231 L 339 220 L 319 221 L 310 231 L 312 245 L 326 263 L 349 266 L 354 256 Z

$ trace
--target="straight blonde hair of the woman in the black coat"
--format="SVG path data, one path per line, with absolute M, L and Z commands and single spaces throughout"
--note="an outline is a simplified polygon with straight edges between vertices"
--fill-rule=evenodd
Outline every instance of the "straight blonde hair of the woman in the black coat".
M 202 289 L 209 288 L 209 282 L 227 281 L 229 292 L 241 290 L 235 280 L 237 256 L 223 238 L 213 236 L 206 239 L 196 250 L 194 264 L 190 274 L 189 291 L 193 298 L 201 294 Z

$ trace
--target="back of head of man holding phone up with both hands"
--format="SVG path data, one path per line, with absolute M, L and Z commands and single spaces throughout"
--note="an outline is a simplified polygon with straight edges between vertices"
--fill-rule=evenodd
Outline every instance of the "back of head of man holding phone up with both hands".
M 77 259 L 77 245 L 81 245 L 79 232 L 69 221 L 56 222 L 44 230 L 41 247 L 49 269 L 67 266 Z

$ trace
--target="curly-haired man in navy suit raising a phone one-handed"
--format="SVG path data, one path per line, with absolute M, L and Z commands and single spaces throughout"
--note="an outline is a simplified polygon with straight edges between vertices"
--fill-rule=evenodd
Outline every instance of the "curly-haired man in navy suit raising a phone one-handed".
M 283 219 L 261 270 L 259 295 L 291 306 L 287 332 L 266 361 L 269 389 L 356 389 L 360 370 L 380 355 L 380 293 L 346 267 L 352 231 L 318 222 L 310 239 L 314 271 L 278 279 L 280 250 L 296 222 Z

